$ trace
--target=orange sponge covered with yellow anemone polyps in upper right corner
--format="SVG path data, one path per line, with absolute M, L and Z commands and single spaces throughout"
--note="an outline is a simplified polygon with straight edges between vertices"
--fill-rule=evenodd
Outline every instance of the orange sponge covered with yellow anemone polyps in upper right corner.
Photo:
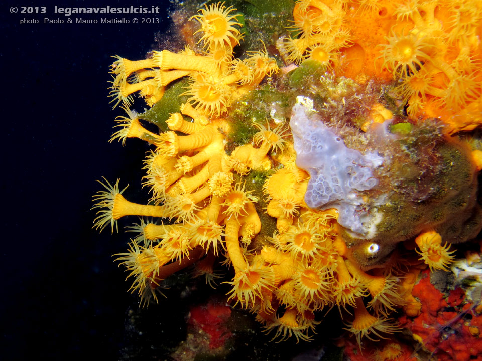
M 393 79 L 410 117 L 441 118 L 450 134 L 482 124 L 480 2 L 298 0 L 293 19 L 294 35 L 278 43 L 287 64 Z

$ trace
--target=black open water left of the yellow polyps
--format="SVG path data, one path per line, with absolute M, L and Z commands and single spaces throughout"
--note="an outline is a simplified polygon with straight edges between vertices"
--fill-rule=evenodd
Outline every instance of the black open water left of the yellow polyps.
M 67 24 L 54 5 L 98 2 L 7 2 L 2 26 L 2 289 L 0 359 L 118 359 L 132 304 L 125 273 L 111 255 L 126 239 L 91 230 L 95 179 L 121 177 L 140 188 L 144 145 L 107 143 L 111 55 L 143 59 L 154 34 L 169 26 L 168 3 L 111 0 L 102 6 L 160 6 L 160 24 Z M 11 14 L 46 6 L 48 14 Z M 43 18 L 64 24 L 43 24 Z M 83 15 L 99 19 L 102 15 Z M 148 16 L 146 16 L 148 17 Z M 41 24 L 20 25 L 23 18 Z M 75 19 L 75 16 L 71 16 Z M 142 111 L 142 109 L 139 109 Z M 128 190 L 129 191 L 129 190 Z M 126 191 L 126 192 L 128 192 Z M 132 191 L 131 191 L 132 192 Z M 132 194 L 134 201 L 139 195 Z

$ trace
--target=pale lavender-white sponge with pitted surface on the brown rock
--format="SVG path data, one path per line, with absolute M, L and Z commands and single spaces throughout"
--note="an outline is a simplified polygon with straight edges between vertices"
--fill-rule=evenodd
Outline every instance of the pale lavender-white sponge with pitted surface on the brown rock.
M 377 186 L 373 169 L 383 158 L 375 152 L 363 155 L 346 147 L 304 99 L 293 107 L 290 126 L 296 165 L 310 174 L 305 202 L 313 209 L 336 208 L 340 225 L 368 237 L 375 231 L 376 217 L 360 193 Z

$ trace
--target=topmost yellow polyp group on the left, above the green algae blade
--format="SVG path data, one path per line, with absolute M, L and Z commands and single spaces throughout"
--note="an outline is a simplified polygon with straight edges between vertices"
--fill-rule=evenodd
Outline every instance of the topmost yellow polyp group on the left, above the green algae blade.
M 242 27 L 236 9 L 224 3 L 211 4 L 191 17 L 199 23 L 200 49 L 185 48 L 179 52 L 153 51 L 148 59 L 131 61 L 119 56 L 111 66 L 113 74 L 110 96 L 114 106 L 129 107 L 138 93 L 149 106 L 162 99 L 166 87 L 188 76 L 189 86 L 183 93 L 188 103 L 207 117 L 225 114 L 240 94 L 255 88 L 266 75 L 278 71 L 276 61 L 266 48 L 252 52 L 245 59 L 235 59 L 234 47 L 242 40 Z

